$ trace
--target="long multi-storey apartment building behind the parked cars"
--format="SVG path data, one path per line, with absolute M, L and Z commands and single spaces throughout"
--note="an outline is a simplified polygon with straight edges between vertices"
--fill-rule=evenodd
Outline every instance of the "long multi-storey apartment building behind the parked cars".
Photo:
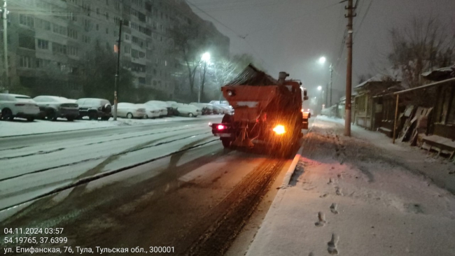
M 183 0 L 8 0 L 8 10 L 10 83 L 49 94 L 82 93 L 83 82 L 77 78 L 84 72 L 83 63 L 95 45 L 114 51 L 120 21 L 120 64 L 132 71 L 135 86 L 168 97 L 173 97 L 176 83 L 182 83 L 182 64 L 169 54 L 173 26 L 196 22 L 219 52 L 229 54 L 229 38 Z M 3 44 L 2 36 L 0 41 Z M 3 74 L 3 62 L 0 68 Z

